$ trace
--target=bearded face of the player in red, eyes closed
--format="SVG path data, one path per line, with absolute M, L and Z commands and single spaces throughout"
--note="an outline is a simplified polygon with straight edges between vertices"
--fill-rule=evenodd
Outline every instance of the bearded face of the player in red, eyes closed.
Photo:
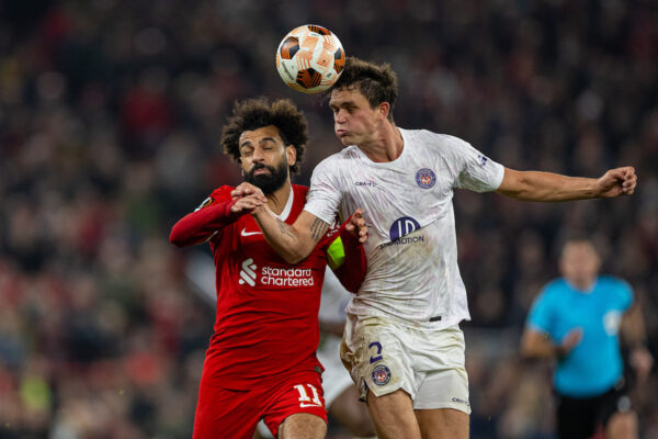
M 295 147 L 285 146 L 279 130 L 268 125 L 240 135 L 240 164 L 245 180 L 264 194 L 280 189 L 288 180 L 288 166 L 295 164 Z

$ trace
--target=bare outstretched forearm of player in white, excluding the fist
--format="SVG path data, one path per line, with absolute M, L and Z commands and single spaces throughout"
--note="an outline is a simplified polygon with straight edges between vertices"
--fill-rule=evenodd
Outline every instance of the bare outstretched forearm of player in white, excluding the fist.
M 508 179 L 506 169 L 506 179 Z M 541 171 L 512 171 L 498 189 L 498 193 L 523 201 L 571 201 L 599 196 L 597 179 L 567 177 Z M 507 184 L 506 184 L 507 183 Z

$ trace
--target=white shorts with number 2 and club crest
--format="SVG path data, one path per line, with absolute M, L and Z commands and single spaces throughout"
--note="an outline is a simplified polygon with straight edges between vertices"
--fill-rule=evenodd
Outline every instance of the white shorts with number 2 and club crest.
M 367 392 L 382 396 L 402 389 L 415 409 L 470 414 L 464 349 L 457 325 L 413 328 L 392 318 L 348 314 L 341 359 L 362 398 Z

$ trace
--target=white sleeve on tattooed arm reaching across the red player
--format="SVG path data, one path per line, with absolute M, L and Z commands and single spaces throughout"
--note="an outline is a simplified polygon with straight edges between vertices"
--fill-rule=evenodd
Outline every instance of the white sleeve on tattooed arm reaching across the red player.
M 304 210 L 327 224 L 333 224 L 342 194 L 336 182 L 336 162 L 330 158 L 322 160 L 313 171 L 310 189 Z

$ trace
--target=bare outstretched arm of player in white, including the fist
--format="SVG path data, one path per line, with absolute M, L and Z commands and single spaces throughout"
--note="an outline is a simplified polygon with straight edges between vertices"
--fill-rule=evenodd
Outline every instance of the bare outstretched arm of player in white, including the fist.
M 631 195 L 636 185 L 631 166 L 611 169 L 599 179 L 506 168 L 496 192 L 523 201 L 570 201 Z

